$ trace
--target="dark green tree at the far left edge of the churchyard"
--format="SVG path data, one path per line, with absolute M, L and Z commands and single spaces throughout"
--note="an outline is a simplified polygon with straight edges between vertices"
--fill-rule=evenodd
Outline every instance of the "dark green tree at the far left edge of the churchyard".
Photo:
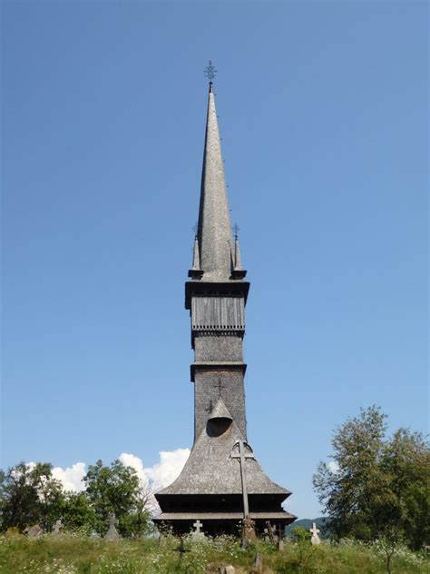
M 23 530 L 35 523 L 46 530 L 52 528 L 64 501 L 62 485 L 53 478 L 52 469 L 48 462 L 20 462 L 6 472 L 0 471 L 2 529 Z

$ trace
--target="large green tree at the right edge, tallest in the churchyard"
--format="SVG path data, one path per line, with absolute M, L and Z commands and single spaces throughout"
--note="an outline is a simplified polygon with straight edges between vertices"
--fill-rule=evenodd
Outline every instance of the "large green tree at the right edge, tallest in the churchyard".
M 386 415 L 361 410 L 334 433 L 334 467 L 320 462 L 313 477 L 338 537 L 379 539 L 387 568 L 401 539 L 420 548 L 429 533 L 429 448 L 406 429 L 386 437 Z

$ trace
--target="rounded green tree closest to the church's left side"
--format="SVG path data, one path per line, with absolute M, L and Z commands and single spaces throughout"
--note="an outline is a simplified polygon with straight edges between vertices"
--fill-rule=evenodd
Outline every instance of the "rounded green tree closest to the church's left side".
M 135 535 L 136 524 L 132 517 L 138 510 L 140 490 L 135 470 L 123 465 L 120 460 L 113 460 L 110 467 L 103 466 L 103 461 L 97 460 L 88 468 L 83 481 L 86 485 L 86 496 L 95 513 L 98 531 L 103 533 L 107 530 L 108 514 L 114 512 L 119 520 L 122 536 Z M 139 518 L 136 517 L 136 520 Z M 140 520 L 143 520 L 142 514 Z

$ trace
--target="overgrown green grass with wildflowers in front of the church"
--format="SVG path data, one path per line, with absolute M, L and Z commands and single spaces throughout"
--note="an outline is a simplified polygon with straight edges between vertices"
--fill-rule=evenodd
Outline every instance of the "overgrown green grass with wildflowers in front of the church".
M 220 572 L 221 565 L 231 564 L 237 574 L 378 574 L 386 572 L 385 557 L 377 546 L 354 542 L 319 547 L 309 543 L 287 542 L 279 552 L 267 542 L 241 549 L 233 539 L 211 542 L 186 539 L 180 558 L 177 539 L 142 539 L 106 542 L 73 536 L 26 539 L 21 536 L 0 537 L 0 572 L 2 574 L 140 574 L 183 572 L 206 574 Z M 263 569 L 254 569 L 256 554 L 262 557 Z M 393 573 L 430 572 L 430 560 L 421 553 L 399 549 L 393 560 Z

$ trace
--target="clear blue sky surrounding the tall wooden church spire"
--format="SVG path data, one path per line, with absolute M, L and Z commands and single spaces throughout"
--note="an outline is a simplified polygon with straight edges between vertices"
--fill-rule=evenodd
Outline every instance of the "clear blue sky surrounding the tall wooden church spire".
M 3 458 L 191 446 L 215 92 L 251 289 L 249 441 L 288 508 L 376 403 L 427 430 L 425 2 L 2 5 Z

